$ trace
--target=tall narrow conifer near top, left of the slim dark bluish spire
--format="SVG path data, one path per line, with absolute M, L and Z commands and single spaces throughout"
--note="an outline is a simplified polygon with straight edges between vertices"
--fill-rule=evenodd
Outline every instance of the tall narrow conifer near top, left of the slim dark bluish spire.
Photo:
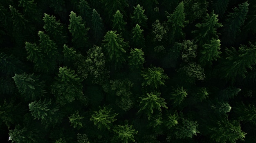
M 88 44 L 87 33 L 90 28 L 86 28 L 85 24 L 82 22 L 81 16 L 76 16 L 76 13 L 71 11 L 70 13 L 70 24 L 68 29 L 72 34 L 72 43 L 74 47 L 77 48 L 85 48 Z

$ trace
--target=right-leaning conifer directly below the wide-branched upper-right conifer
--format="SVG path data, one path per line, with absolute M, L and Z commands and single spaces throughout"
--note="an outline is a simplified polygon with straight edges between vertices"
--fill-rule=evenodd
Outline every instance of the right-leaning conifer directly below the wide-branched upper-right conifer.
M 210 44 L 204 44 L 199 62 L 202 66 L 212 64 L 213 60 L 220 58 L 220 40 L 212 38 Z

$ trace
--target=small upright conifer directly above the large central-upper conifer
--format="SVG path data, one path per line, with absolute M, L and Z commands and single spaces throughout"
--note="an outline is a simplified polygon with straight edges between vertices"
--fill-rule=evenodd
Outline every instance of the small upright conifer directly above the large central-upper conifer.
M 123 14 L 120 13 L 119 10 L 113 15 L 113 24 L 112 24 L 112 29 L 118 31 L 119 33 L 123 32 L 125 30 L 125 25 L 126 22 L 124 21 Z

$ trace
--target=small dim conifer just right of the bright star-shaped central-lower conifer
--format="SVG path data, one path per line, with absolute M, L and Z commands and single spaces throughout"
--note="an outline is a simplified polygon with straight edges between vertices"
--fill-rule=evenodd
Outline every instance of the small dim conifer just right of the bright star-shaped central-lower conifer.
M 171 98 L 173 100 L 174 105 L 179 105 L 185 97 L 188 95 L 186 92 L 187 90 L 181 88 L 177 88 L 176 90 L 174 89 L 173 92 L 171 92 Z

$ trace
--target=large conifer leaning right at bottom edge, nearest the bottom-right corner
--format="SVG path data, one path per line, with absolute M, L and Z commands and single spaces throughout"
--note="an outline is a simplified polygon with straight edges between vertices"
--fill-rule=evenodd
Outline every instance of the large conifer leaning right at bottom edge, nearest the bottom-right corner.
M 222 119 L 217 121 L 217 125 L 213 128 L 209 128 L 211 132 L 211 139 L 221 143 L 236 143 L 236 140 L 244 141 L 247 133 L 241 130 L 240 123 L 238 121 L 229 121 L 228 119 Z

